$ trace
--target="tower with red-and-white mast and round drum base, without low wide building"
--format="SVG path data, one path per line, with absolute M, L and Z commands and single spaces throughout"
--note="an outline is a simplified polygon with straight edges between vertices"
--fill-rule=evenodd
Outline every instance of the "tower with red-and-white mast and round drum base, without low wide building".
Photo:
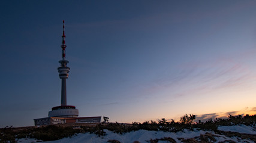
M 67 67 L 69 61 L 66 60 L 66 51 L 67 48 L 65 42 L 65 24 L 63 20 L 63 34 L 62 34 L 62 60 L 59 61 L 61 64 L 58 67 L 59 78 L 61 79 L 61 105 L 52 108 L 52 111 L 49 111 L 49 117 L 77 117 L 79 116 L 79 110 L 76 109 L 73 105 L 67 105 L 67 85 L 66 79 L 68 79 L 68 73 L 70 73 L 70 67 Z

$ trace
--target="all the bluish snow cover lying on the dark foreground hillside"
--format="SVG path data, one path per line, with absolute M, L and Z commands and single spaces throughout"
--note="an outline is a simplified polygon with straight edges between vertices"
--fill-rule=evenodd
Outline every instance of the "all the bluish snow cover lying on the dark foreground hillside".
M 256 135 L 256 129 L 252 126 L 245 125 L 237 125 L 237 126 L 219 126 L 219 130 L 231 131 L 231 132 L 239 132 L 239 133 L 248 133 L 252 135 Z M 227 137 L 224 135 L 215 134 L 213 131 L 204 131 L 204 130 L 183 130 L 182 132 L 164 132 L 164 131 L 149 131 L 149 130 L 137 130 L 129 133 L 124 133 L 120 135 L 118 133 L 113 133 L 110 130 L 104 130 L 106 132 L 106 136 L 98 136 L 90 133 L 79 133 L 74 135 L 73 138 L 64 138 L 59 139 L 58 141 L 49 141 L 46 143 L 80 143 L 80 142 L 88 142 L 88 143 L 101 143 L 107 142 L 110 139 L 116 139 L 120 142 L 134 142 L 139 141 L 140 143 L 149 142 L 150 139 L 161 139 L 164 137 L 173 138 L 176 142 L 181 142 L 181 139 L 188 138 L 197 138 L 200 135 L 210 135 L 216 140 L 214 142 L 220 141 L 234 141 L 234 142 L 254 142 L 249 139 L 241 139 L 237 136 Z M 35 139 L 19 139 L 18 142 L 37 142 Z M 168 141 L 159 141 L 159 142 L 168 142 Z

